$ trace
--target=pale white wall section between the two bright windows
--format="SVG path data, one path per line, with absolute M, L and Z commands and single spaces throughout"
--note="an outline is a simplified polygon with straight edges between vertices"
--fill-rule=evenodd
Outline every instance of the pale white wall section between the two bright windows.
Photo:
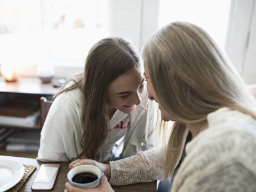
M 110 0 L 110 35 L 122 36 L 140 51 L 157 30 L 158 0 Z

